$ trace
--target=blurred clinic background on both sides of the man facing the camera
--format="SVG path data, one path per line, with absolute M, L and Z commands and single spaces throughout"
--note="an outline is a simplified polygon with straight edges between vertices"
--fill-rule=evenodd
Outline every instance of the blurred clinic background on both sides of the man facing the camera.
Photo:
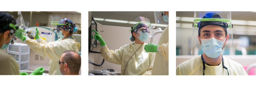
M 240 63 L 248 75 L 255 75 L 256 70 L 256 12 L 231 12 L 234 54 L 223 54 Z M 193 47 L 194 12 L 176 12 L 176 66 L 203 53 L 201 48 Z M 197 36 L 198 31 L 195 30 Z M 195 39 L 194 39 L 195 40 Z M 196 38 L 198 41 L 198 38 Z M 198 41 L 199 42 L 199 41 Z

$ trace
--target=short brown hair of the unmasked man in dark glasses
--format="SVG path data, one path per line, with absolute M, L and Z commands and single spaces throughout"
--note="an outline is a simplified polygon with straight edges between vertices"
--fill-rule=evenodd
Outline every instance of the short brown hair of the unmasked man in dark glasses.
M 63 57 L 62 61 L 70 65 L 68 66 L 70 69 L 70 73 L 79 73 L 81 67 L 81 56 L 73 50 L 67 50 L 64 51 L 63 54 L 64 53 L 65 56 Z

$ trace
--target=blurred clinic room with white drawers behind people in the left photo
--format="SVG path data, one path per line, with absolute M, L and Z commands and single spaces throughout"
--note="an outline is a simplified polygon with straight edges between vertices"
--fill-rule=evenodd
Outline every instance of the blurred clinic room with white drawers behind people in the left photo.
M 9 11 L 8 13 L 12 14 L 15 19 L 18 18 L 18 12 Z M 39 36 L 42 39 L 45 39 L 46 42 L 50 42 L 50 22 L 51 16 L 59 16 L 61 18 L 70 19 L 74 22 L 78 28 L 76 33 L 73 33 L 74 39 L 81 44 L 81 12 L 23 12 L 22 17 L 24 19 L 24 23 L 28 28 L 38 28 Z M 58 40 L 59 38 L 56 36 L 55 33 L 52 34 L 52 41 Z M 40 55 L 36 54 L 29 46 L 22 42 L 19 38 L 17 38 L 16 44 L 10 44 L 9 48 L 6 49 L 6 52 L 9 55 L 12 55 L 14 59 L 19 64 L 19 69 L 22 72 L 29 73 L 30 70 L 34 70 L 38 67 L 43 67 L 45 69 L 45 73 L 48 73 L 48 66 L 50 59 L 41 57 Z M 22 43 L 22 44 L 19 44 Z M 20 45 L 20 46 L 19 46 Z M 24 50 L 26 49 L 26 50 Z M 79 54 L 81 55 L 81 46 L 79 48 Z M 81 75 L 81 69 L 80 69 Z

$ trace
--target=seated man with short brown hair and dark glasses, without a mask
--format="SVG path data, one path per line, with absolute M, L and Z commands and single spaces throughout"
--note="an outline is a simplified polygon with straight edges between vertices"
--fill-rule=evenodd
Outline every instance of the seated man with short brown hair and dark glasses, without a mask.
M 81 57 L 73 50 L 64 51 L 59 60 L 62 75 L 79 75 Z

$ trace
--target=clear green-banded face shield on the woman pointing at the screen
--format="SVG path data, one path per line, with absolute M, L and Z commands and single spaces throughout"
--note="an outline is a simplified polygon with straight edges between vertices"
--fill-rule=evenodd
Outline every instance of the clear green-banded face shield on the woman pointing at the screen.
M 137 17 L 136 19 L 134 19 L 134 21 L 132 22 L 131 30 L 134 30 L 136 36 L 139 37 L 139 39 L 141 38 L 141 41 L 146 41 L 148 37 L 152 37 L 155 39 L 151 23 L 149 19 L 145 17 Z

